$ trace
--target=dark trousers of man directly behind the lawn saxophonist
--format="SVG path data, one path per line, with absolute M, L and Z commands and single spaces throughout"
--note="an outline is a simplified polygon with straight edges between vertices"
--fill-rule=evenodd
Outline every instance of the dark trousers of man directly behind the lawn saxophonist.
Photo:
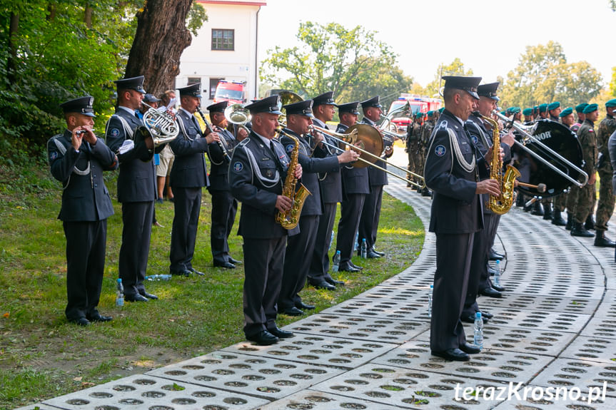
M 314 252 L 319 215 L 301 215 L 300 233 L 288 237 L 278 309 L 288 309 L 302 301 L 299 292 L 306 285 L 310 257 Z

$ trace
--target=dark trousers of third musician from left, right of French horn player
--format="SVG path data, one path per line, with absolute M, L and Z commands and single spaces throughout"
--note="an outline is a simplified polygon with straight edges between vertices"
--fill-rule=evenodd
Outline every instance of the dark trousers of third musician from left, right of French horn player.
M 201 211 L 201 187 L 173 187 L 173 228 L 171 230 L 170 269 L 174 272 L 191 270 L 195 255 L 195 242 L 199 212 Z

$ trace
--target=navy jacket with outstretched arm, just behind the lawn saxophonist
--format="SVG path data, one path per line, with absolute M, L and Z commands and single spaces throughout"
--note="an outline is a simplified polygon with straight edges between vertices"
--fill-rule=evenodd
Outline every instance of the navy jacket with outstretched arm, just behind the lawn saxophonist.
M 323 204 L 320 198 L 317 173 L 325 172 L 332 168 L 340 168 L 340 165 L 338 165 L 338 157 L 311 158 L 308 141 L 288 128 L 285 128 L 284 131 L 298 138 L 300 142 L 298 162 L 302 166 L 301 183 L 303 183 L 312 194 L 308 195 L 308 198 L 304 201 L 301 215 L 321 215 L 323 214 Z M 295 147 L 295 143 L 293 143 L 291 138 L 283 135 L 281 137 L 281 143 L 286 149 L 287 154 L 291 155 L 291 151 Z

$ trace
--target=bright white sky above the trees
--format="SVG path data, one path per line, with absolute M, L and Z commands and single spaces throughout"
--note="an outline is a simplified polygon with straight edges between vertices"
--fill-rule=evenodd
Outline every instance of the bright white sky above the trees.
M 377 33 L 398 54 L 398 66 L 421 86 L 440 63 L 458 57 L 483 82 L 506 77 L 526 46 L 557 41 L 568 63 L 587 61 L 604 86 L 616 66 L 616 13 L 609 0 L 266 0 L 259 12 L 258 53 L 299 45 L 301 21 Z

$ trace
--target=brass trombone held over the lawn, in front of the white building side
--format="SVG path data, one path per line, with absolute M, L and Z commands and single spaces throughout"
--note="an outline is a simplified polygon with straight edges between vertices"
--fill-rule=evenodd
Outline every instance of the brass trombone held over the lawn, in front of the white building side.
M 377 168 L 378 170 L 382 170 L 385 173 L 388 173 L 389 175 L 394 176 L 395 178 L 398 178 L 400 180 L 404 180 L 407 183 L 410 183 L 412 185 L 415 185 L 418 188 L 424 188 L 425 187 L 425 180 L 423 179 L 423 176 L 413 173 L 410 170 L 405 170 L 402 167 L 399 167 L 398 165 L 395 165 L 393 163 L 390 163 L 386 160 L 384 160 L 383 158 L 380 158 L 380 156 L 375 155 L 373 153 L 371 153 L 368 150 L 365 150 L 363 148 L 358 147 L 357 145 L 355 145 L 355 143 L 361 143 L 362 145 L 365 145 L 366 142 L 370 142 L 373 143 L 374 146 L 376 145 L 380 145 L 380 147 L 376 147 L 378 148 L 378 153 L 382 152 L 383 150 L 383 145 L 382 144 L 376 144 L 374 143 L 374 140 L 376 139 L 375 137 L 378 136 L 378 139 L 380 138 L 380 134 L 378 133 L 378 130 L 375 130 L 375 128 L 372 125 L 368 125 L 368 124 L 355 124 L 353 126 L 351 126 L 347 131 L 348 133 L 335 133 L 334 131 L 328 130 L 327 128 L 321 128 L 317 125 L 310 125 L 310 129 L 311 130 L 317 130 L 320 133 L 323 134 L 327 134 L 329 135 L 331 138 L 333 138 L 334 140 L 338 141 L 338 143 L 343 143 L 345 145 L 348 145 L 348 147 L 350 147 L 350 149 L 353 150 L 358 150 L 360 151 L 360 153 L 362 153 L 363 155 L 367 156 L 368 158 L 370 158 L 371 160 L 366 160 L 365 158 L 362 158 L 362 156 L 360 156 L 358 158 L 358 160 L 360 160 L 363 164 L 358 165 L 358 163 L 354 163 L 353 166 L 354 167 L 365 167 L 368 165 L 372 165 L 374 168 Z M 365 137 L 362 137 L 363 135 L 365 135 Z M 363 138 L 360 139 L 360 137 Z M 349 142 L 350 141 L 350 142 Z M 325 140 L 323 140 L 323 144 L 327 145 L 328 147 L 334 148 L 335 150 L 339 150 L 339 151 L 344 151 L 343 148 L 340 148 L 336 145 L 332 145 L 330 143 L 327 143 Z M 414 180 L 411 180 L 410 178 L 403 178 L 400 175 L 391 172 L 390 170 L 380 167 L 378 165 L 375 165 L 375 163 L 377 161 L 383 161 L 383 163 L 396 168 L 398 170 L 403 171 L 404 173 L 411 175 L 413 178 L 417 178 L 419 180 L 419 182 L 415 182 Z

